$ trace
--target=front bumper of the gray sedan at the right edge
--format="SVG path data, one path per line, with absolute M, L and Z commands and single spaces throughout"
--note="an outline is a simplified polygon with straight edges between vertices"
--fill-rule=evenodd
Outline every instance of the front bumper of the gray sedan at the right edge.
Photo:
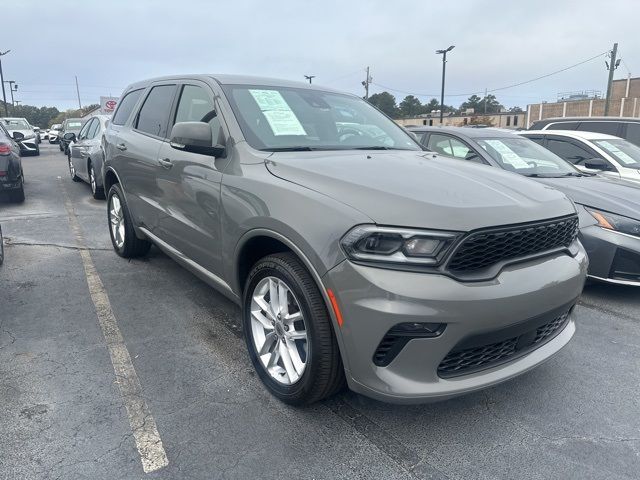
M 580 241 L 591 278 L 640 286 L 640 238 L 591 225 L 580 229 Z

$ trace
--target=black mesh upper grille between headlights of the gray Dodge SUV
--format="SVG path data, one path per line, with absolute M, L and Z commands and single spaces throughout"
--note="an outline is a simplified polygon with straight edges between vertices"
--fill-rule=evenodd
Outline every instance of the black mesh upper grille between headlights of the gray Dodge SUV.
M 472 233 L 456 249 L 448 268 L 452 272 L 482 270 L 503 260 L 568 247 L 577 234 L 576 216 Z

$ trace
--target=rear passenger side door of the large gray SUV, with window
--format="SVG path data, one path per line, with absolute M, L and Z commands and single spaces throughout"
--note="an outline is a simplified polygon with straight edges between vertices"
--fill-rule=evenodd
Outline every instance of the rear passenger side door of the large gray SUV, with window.
M 158 151 L 168 135 L 176 90 L 175 82 L 152 84 L 130 122 L 131 128 L 120 129 L 115 146 L 121 152 L 117 171 L 125 184 L 129 210 L 137 225 L 154 233 L 163 210 Z

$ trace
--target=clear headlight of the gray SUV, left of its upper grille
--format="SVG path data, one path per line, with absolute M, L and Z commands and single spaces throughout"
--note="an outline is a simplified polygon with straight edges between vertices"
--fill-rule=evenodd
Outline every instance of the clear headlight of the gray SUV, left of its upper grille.
M 457 232 L 359 225 L 351 229 L 340 244 L 347 256 L 356 261 L 435 266 L 459 235 Z

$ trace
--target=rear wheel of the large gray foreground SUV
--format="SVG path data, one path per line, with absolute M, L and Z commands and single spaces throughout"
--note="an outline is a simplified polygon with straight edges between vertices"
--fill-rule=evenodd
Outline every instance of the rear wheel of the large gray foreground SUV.
M 141 257 L 149 251 L 151 243 L 136 237 L 129 208 L 124 201 L 122 189 L 117 183 L 109 190 L 107 221 L 109 222 L 111 243 L 118 255 L 124 258 L 134 258 Z

